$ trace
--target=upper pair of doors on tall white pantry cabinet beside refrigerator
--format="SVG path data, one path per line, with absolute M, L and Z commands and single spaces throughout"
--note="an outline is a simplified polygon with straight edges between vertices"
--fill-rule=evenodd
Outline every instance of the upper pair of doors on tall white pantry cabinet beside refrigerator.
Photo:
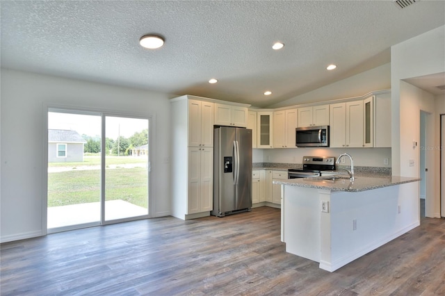
M 188 100 L 188 147 L 213 147 L 213 105 Z

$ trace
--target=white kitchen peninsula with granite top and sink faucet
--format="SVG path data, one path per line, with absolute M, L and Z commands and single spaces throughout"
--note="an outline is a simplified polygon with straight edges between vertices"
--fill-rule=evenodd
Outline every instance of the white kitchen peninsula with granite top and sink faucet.
M 420 179 L 345 176 L 274 181 L 282 187 L 286 252 L 333 272 L 420 224 Z

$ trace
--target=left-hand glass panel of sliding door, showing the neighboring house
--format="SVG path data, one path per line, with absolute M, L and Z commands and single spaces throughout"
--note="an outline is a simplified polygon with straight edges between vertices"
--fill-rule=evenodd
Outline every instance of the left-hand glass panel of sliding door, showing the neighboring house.
M 48 112 L 49 233 L 100 223 L 101 116 L 63 111 Z

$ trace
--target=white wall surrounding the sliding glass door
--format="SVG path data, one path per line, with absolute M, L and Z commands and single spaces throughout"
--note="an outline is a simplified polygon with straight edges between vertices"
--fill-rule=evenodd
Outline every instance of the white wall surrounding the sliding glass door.
M 153 116 L 153 215 L 170 215 L 167 94 L 1 69 L 1 242 L 40 236 L 44 206 L 44 106 Z

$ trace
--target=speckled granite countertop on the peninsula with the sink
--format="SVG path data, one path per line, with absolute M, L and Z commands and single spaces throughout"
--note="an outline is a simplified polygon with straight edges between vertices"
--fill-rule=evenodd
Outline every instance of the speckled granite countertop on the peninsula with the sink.
M 359 192 L 421 180 L 419 178 L 410 178 L 405 176 L 356 176 L 353 182 L 351 182 L 350 179 L 345 176 L 337 176 L 337 179 L 334 180 L 328 178 L 330 178 L 330 176 L 276 180 L 273 181 L 273 183 L 287 186 L 300 186 L 332 191 Z

